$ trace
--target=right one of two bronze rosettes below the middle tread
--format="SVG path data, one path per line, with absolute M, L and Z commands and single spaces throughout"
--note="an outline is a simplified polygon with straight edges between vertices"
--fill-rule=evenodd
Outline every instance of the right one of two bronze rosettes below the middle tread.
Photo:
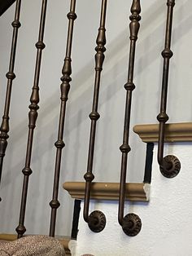
M 127 214 L 124 216 L 122 228 L 127 236 L 137 236 L 142 229 L 142 220 L 137 214 Z

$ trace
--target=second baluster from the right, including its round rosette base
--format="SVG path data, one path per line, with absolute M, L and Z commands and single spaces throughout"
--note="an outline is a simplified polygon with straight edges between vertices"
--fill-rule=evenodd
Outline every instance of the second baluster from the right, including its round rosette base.
M 140 0 L 133 0 L 131 7 L 131 13 L 129 19 L 130 29 L 130 51 L 129 51 L 129 71 L 128 71 L 128 82 L 124 85 L 127 90 L 126 104 L 125 104 L 125 115 L 124 115 L 124 138 L 123 144 L 120 146 L 122 152 L 121 158 L 121 170 L 120 170 L 120 198 L 119 198 L 119 213 L 118 220 L 122 226 L 125 234 L 129 236 L 136 236 L 141 229 L 141 220 L 136 214 L 127 214 L 124 217 L 124 193 L 126 183 L 126 172 L 127 172 L 127 157 L 131 148 L 129 147 L 129 126 L 130 126 L 130 114 L 131 114 L 131 101 L 132 92 L 135 89 L 133 84 L 133 71 L 134 71 L 134 60 L 135 60 L 135 47 L 137 41 L 137 33 L 140 27 L 139 20 L 141 16 Z M 139 228 L 138 228 L 139 227 Z

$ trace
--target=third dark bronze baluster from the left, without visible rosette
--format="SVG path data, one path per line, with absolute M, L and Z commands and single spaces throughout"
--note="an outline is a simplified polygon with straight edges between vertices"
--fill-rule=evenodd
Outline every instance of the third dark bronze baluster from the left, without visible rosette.
M 51 217 L 50 217 L 50 236 L 55 236 L 55 223 L 56 223 L 56 214 L 57 209 L 59 208 L 58 193 L 59 193 L 59 175 L 60 175 L 60 166 L 61 166 L 61 154 L 62 149 L 65 146 L 63 142 L 63 130 L 64 130 L 64 120 L 66 112 L 66 103 L 68 100 L 68 92 L 70 90 L 70 82 L 72 78 L 72 66 L 71 66 L 71 51 L 72 51 L 72 34 L 73 34 L 73 25 L 74 20 L 76 20 L 76 0 L 71 0 L 70 12 L 68 13 L 68 40 L 67 40 L 67 50 L 66 56 L 64 59 L 62 74 L 61 77 L 61 104 L 60 104 L 60 116 L 59 116 L 59 131 L 58 131 L 58 140 L 55 142 L 56 151 L 56 161 L 55 161 L 55 179 L 54 179 L 54 188 L 53 188 L 53 198 L 50 201 L 51 207 Z

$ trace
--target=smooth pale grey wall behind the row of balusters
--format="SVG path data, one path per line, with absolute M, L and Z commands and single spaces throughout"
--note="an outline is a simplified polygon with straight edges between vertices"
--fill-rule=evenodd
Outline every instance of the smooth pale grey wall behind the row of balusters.
M 129 7 L 131 1 L 108 2 L 107 52 L 98 112 L 94 157 L 95 181 L 116 182 L 120 179 L 120 150 L 124 123 L 124 83 L 127 78 L 129 52 Z M 174 13 L 168 115 L 170 121 L 190 121 L 192 73 L 190 0 L 177 1 Z M 22 27 L 16 55 L 13 84 L 10 139 L 2 174 L 0 204 L 1 232 L 13 232 L 18 223 L 22 184 L 21 170 L 28 132 L 28 104 L 33 86 L 34 63 L 41 1 L 23 1 Z M 94 84 L 94 47 L 97 36 L 100 1 L 77 1 L 72 51 L 72 88 L 68 100 L 60 179 L 59 224 L 57 233 L 68 235 L 71 229 L 72 200 L 63 192 L 64 181 L 83 180 L 89 143 L 89 113 Z M 55 167 L 55 140 L 59 120 L 59 77 L 66 46 L 69 1 L 48 2 L 45 43 L 41 68 L 41 102 L 33 144 L 33 174 L 29 179 L 26 227 L 29 233 L 48 233 L 52 180 Z M 162 57 L 164 48 L 165 1 L 142 1 L 141 29 L 137 41 L 135 85 L 131 127 L 138 123 L 154 123 L 159 113 Z M 11 45 L 11 21 L 14 7 L 0 18 L 0 110 L 3 112 Z M 182 93 L 181 93 L 182 91 Z M 128 180 L 142 181 L 145 145 L 130 133 Z M 139 157 L 139 161 L 138 161 Z M 9 219 L 9 222 L 7 222 Z

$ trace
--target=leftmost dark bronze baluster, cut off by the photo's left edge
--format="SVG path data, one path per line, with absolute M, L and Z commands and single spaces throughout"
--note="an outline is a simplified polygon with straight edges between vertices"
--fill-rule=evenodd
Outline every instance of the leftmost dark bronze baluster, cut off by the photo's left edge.
M 0 182 L 2 178 L 2 163 L 3 158 L 5 157 L 6 149 L 7 149 L 7 139 L 9 138 L 9 109 L 11 104 L 11 90 L 12 90 L 12 82 L 15 79 L 14 67 L 15 67 L 15 53 L 17 46 L 17 38 L 18 38 L 18 29 L 20 28 L 20 6 L 21 0 L 16 1 L 15 7 L 15 20 L 12 22 L 13 27 L 13 36 L 12 36 L 12 44 L 11 44 L 11 57 L 9 64 L 9 71 L 6 75 L 7 77 L 7 95 L 5 100 L 5 108 L 4 114 L 2 116 L 2 126 L 0 128 Z

